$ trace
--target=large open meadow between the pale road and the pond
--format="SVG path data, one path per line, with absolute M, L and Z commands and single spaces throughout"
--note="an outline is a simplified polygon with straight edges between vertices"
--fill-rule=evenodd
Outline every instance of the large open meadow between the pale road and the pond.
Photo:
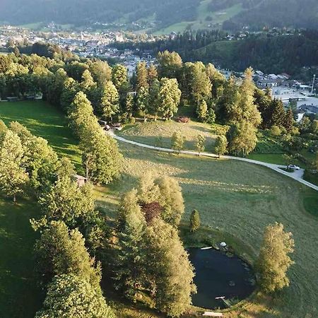
M 131 189 L 140 175 L 152 171 L 178 179 L 186 206 L 184 223 L 191 211 L 198 209 L 203 225 L 243 242 L 244 256 L 249 259 L 256 259 L 269 223 L 281 222 L 293 232 L 295 265 L 289 272 L 290 288 L 273 301 L 254 297 L 227 317 L 318 317 L 317 192 L 266 167 L 159 153 L 125 143 L 119 146 L 125 158 L 123 175 L 106 191 L 99 189 L 98 205 L 110 216 L 116 215 L 120 195 Z M 124 317 L 147 317 L 139 314 Z

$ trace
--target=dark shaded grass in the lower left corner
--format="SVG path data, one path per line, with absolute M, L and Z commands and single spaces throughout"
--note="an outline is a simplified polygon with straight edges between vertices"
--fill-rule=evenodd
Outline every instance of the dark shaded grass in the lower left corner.
M 30 218 L 40 216 L 32 199 L 0 196 L 0 317 L 33 318 L 40 309 L 42 293 L 33 278 L 33 245 L 36 233 Z

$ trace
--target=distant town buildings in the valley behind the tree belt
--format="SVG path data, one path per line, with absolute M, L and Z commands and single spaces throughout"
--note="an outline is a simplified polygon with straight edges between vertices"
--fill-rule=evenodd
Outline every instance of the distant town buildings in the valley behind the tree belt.
M 136 66 L 145 61 L 149 66 L 157 64 L 156 58 L 151 52 L 140 54 L 138 50 L 117 49 L 114 43 L 134 42 L 136 37 L 133 33 L 124 31 L 107 30 L 105 32 L 87 31 L 61 31 L 57 30 L 57 25 L 50 23 L 47 25 L 46 32 L 29 30 L 11 25 L 0 27 L 0 52 L 6 52 L 11 45 L 33 45 L 36 42 L 47 42 L 58 45 L 62 49 L 67 49 L 79 57 L 105 59 L 110 63 L 123 64 L 126 66 L 129 77 L 133 76 Z M 174 37 L 176 34 L 168 35 Z M 232 40 L 233 37 L 228 37 Z M 156 37 L 145 35 L 145 40 L 153 42 Z M 242 77 L 243 73 L 237 73 L 230 69 L 219 69 L 226 78 L 233 73 L 235 76 Z M 318 77 L 314 76 L 312 83 L 291 78 L 287 73 L 266 74 L 262 71 L 254 71 L 254 82 L 258 88 L 265 90 L 270 88 L 274 98 L 283 101 L 285 107 L 293 104 L 299 113 L 298 119 L 302 119 L 304 114 L 318 114 L 317 87 Z M 316 94 L 315 94 L 316 93 Z

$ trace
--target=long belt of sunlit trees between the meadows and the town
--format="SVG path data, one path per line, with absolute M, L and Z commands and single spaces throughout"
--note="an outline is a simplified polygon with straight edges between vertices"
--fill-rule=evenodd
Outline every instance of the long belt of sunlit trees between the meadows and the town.
M 111 181 L 120 162 L 116 144 L 103 134 L 98 118 L 124 123 L 134 123 L 136 117 L 170 120 L 180 107 L 188 108 L 201 122 L 227 125 L 227 151 L 235 155 L 254 150 L 259 128 L 278 126 L 297 133 L 292 110 L 286 112 L 269 91 L 254 86 L 252 69 L 243 79 L 227 80 L 213 64 L 184 63 L 176 52 L 160 52 L 158 66 L 139 63 L 132 78 L 121 64 L 111 68 L 105 61 L 62 61 L 35 54 L 0 57 L 0 71 L 2 96 L 42 92 L 64 111 L 81 141 L 86 177 L 93 182 Z M 97 163 L 108 166 L 109 173 L 98 170 Z

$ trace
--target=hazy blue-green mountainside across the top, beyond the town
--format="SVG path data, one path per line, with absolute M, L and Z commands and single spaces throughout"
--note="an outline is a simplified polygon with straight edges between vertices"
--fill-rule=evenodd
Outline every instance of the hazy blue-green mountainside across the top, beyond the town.
M 318 28 L 317 0 L 2 0 L 0 21 L 140 23 L 156 33 L 208 28 Z

